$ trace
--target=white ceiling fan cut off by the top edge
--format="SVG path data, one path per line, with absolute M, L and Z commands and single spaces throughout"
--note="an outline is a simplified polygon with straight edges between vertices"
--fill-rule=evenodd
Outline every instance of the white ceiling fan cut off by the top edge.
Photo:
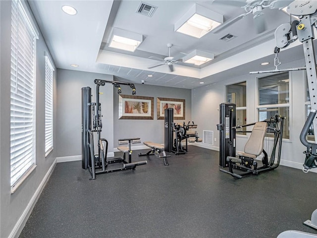
M 233 17 L 224 22 L 222 25 L 218 26 L 213 31 L 213 33 L 222 31 L 223 29 L 252 13 L 256 32 L 257 34 L 260 34 L 266 29 L 263 9 L 267 7 L 270 9 L 280 9 L 287 6 L 292 1 L 293 0 L 213 0 L 215 4 L 239 6 L 244 8 L 246 11 L 246 13 Z

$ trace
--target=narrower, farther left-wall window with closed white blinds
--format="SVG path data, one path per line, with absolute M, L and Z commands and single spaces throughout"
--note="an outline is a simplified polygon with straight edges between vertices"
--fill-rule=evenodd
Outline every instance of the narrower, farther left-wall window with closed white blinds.
M 53 150 L 53 63 L 45 57 L 45 156 Z

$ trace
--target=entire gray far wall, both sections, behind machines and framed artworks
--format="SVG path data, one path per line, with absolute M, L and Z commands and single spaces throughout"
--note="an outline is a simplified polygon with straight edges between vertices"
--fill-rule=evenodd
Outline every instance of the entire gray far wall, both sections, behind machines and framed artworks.
M 112 81 L 112 75 L 57 69 L 57 152 L 56 157 L 81 156 L 81 88 L 92 88 L 92 102 L 95 102 L 94 79 Z M 117 81 L 120 81 L 116 79 Z M 131 95 L 129 86 L 122 85 L 122 93 Z M 108 153 L 116 148 L 120 138 L 140 137 L 164 143 L 164 120 L 157 119 L 157 97 L 185 99 L 185 120 L 191 120 L 191 90 L 136 84 L 138 96 L 154 97 L 154 119 L 118 119 L 118 94 L 112 84 L 100 87 L 103 130 L 101 136 L 108 141 Z M 183 120 L 175 120 L 183 122 Z M 143 144 L 134 144 L 136 146 Z

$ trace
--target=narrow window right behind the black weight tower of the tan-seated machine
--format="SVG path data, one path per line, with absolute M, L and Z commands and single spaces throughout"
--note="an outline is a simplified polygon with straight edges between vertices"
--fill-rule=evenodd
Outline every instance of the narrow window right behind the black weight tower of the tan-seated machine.
M 236 125 L 247 123 L 247 82 L 240 82 L 226 85 L 226 102 L 236 104 Z M 243 127 L 242 131 L 246 131 Z M 246 135 L 246 132 L 240 132 L 239 135 Z

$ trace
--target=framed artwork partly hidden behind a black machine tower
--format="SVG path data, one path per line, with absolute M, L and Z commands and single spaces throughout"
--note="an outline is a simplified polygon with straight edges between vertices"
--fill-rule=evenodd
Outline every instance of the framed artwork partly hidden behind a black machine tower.
M 158 98 L 158 119 L 164 119 L 164 112 L 166 108 L 174 109 L 174 119 L 185 120 L 185 99 Z

